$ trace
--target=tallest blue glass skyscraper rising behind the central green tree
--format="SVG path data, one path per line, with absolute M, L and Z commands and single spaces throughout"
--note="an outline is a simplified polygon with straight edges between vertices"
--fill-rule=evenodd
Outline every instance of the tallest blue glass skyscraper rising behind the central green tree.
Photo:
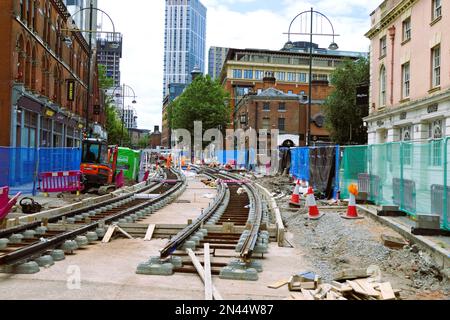
M 199 0 L 166 0 L 163 98 L 171 83 L 189 84 L 205 72 L 206 7 Z

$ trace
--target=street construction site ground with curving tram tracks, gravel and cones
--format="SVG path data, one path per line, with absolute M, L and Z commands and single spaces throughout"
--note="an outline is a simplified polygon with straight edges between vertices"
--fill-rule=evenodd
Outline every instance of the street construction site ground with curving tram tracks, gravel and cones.
M 316 149 L 290 150 L 289 166 L 272 174 L 170 156 L 103 195 L 41 185 L 21 205 L 6 197 L 0 298 L 448 300 L 440 217 L 436 226 L 432 214 L 377 204 L 364 168 L 355 182 L 342 164 L 328 170 L 351 149 L 344 158 L 322 149 L 331 155 L 322 178 Z M 38 212 L 23 212 L 33 204 Z

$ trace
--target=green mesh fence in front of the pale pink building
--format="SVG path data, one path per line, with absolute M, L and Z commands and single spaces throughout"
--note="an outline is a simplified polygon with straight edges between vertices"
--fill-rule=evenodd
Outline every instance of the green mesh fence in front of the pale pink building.
M 450 141 L 396 142 L 345 147 L 340 167 L 341 197 L 348 186 L 377 205 L 396 205 L 411 216 L 436 214 L 450 230 Z M 446 183 L 445 183 L 446 182 Z

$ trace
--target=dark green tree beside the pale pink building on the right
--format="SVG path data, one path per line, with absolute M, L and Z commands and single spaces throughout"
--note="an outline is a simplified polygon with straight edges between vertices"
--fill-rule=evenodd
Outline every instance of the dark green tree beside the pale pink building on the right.
M 370 81 L 369 60 L 346 60 L 331 75 L 335 88 L 325 101 L 325 126 L 331 139 L 337 144 L 367 144 L 367 128 L 363 118 L 369 114 L 369 106 L 356 103 L 358 86 Z

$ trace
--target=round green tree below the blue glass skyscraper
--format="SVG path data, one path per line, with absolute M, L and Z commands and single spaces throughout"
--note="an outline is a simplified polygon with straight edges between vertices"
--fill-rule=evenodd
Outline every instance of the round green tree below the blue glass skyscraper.
M 198 76 L 169 106 L 172 129 L 186 129 L 194 134 L 194 121 L 208 129 L 225 129 L 230 122 L 229 94 L 209 75 Z

